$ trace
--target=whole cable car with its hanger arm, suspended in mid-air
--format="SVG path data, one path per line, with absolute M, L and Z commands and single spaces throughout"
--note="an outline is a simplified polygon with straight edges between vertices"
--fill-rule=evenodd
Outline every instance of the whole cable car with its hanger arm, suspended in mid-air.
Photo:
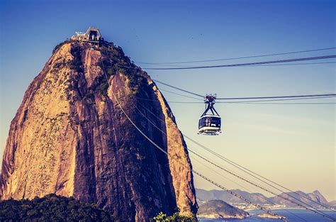
M 216 96 L 216 94 L 209 94 L 204 98 L 206 111 L 204 111 L 201 118 L 198 119 L 198 134 L 218 135 L 219 133 L 222 133 L 220 129 L 221 118 L 213 107 Z M 211 113 L 208 114 L 208 111 L 211 111 Z

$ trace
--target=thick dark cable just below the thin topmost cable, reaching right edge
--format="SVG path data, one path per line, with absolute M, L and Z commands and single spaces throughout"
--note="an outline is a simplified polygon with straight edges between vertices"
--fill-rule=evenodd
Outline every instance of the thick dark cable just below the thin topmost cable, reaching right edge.
M 308 61 L 308 60 L 326 60 L 335 58 L 336 55 L 323 55 L 317 57 L 301 57 L 287 60 L 271 60 L 264 62 L 246 62 L 246 63 L 236 63 L 236 64 L 226 64 L 226 65 L 204 65 L 204 66 L 193 66 L 193 67 L 145 67 L 143 70 L 196 70 L 196 69 L 208 69 L 208 68 L 220 68 L 220 67 L 240 67 L 247 65 L 267 65 L 267 64 L 277 64 L 284 62 L 300 62 L 300 61 Z M 128 67 L 123 65 L 118 65 L 119 67 L 135 69 L 138 70 L 140 67 Z

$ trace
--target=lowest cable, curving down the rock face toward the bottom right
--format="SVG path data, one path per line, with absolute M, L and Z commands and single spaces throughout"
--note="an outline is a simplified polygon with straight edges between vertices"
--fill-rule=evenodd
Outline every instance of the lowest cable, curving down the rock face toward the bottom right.
M 103 63 L 101 62 L 101 65 L 103 67 Z M 106 72 L 105 72 L 105 68 L 103 67 L 103 72 L 105 74 L 105 77 L 106 77 L 106 80 L 108 82 L 108 77 L 106 75 Z M 108 86 L 111 87 L 111 84 L 108 82 Z M 136 124 L 130 119 L 130 117 L 127 115 L 127 113 L 125 113 L 123 107 L 121 106 L 121 104 L 118 102 L 118 98 L 116 97 L 116 95 L 113 93 L 113 91 L 111 91 L 111 93 L 113 94 L 113 97 L 116 99 L 117 101 L 117 104 L 119 106 L 119 108 L 121 109 L 121 111 L 123 112 L 123 114 L 125 115 L 125 117 L 128 119 L 128 121 L 130 121 L 130 123 L 135 127 L 135 129 L 144 137 L 146 138 L 148 141 L 150 141 L 150 143 L 152 143 L 152 145 L 155 146 L 155 148 L 159 149 L 160 151 L 164 152 L 165 155 L 167 155 L 167 157 L 169 156 L 168 152 L 166 152 L 164 149 L 162 149 L 161 147 L 159 147 L 159 145 L 157 145 L 153 140 L 151 140 L 145 133 L 143 133 L 140 128 L 138 128 L 138 126 L 136 126 Z M 258 204 L 254 204 L 252 203 L 252 201 L 248 200 L 248 199 L 245 199 L 244 197 L 240 196 L 239 194 L 236 194 L 235 192 L 231 191 L 230 189 L 227 189 L 225 187 L 223 187 L 222 185 L 214 182 L 212 179 L 209 179 L 208 177 L 204 176 L 203 174 L 197 172 L 196 170 L 192 170 L 191 169 L 191 172 L 194 172 L 194 174 L 197 174 L 199 177 L 202 177 L 203 179 L 206 179 L 208 182 L 211 182 L 211 184 L 215 185 L 216 187 L 219 187 L 220 189 L 223 189 L 224 191 L 234 195 L 234 196 L 237 196 L 239 199 L 242 199 L 243 201 L 247 202 L 248 204 L 252 204 L 253 206 L 256 206 L 258 209 L 266 212 L 266 213 L 269 213 L 271 214 L 272 216 L 276 216 L 276 217 L 279 217 L 281 218 L 282 221 L 288 221 L 286 218 L 284 218 L 283 216 L 279 216 L 278 214 L 276 213 L 273 213 L 271 211 L 269 211 L 268 209 L 265 209 L 263 206 L 259 206 Z

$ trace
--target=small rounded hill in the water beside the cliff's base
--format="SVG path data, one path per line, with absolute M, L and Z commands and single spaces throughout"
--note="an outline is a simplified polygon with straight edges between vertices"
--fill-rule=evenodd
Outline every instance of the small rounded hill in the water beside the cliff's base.
M 201 204 L 198 209 L 197 216 L 200 218 L 213 218 L 213 219 L 229 219 L 229 218 L 246 218 L 250 216 L 249 213 L 237 209 L 230 204 L 221 200 L 206 201 Z

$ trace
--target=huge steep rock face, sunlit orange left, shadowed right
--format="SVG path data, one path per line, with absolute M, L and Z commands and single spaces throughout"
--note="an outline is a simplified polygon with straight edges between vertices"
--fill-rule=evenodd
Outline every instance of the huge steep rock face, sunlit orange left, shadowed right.
M 62 43 L 33 79 L 11 122 L 1 199 L 74 196 L 123 221 L 194 215 L 191 162 L 172 111 L 121 48 L 103 45 Z

